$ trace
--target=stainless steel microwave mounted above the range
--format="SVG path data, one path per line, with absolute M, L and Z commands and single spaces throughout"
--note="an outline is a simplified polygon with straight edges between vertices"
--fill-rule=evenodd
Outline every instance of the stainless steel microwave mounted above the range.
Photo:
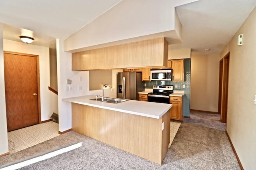
M 150 70 L 150 80 L 172 81 L 172 69 Z

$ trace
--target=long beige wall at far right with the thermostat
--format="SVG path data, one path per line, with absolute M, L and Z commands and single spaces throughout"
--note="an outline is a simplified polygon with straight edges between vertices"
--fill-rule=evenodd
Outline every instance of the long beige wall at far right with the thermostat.
M 256 167 L 256 8 L 222 51 L 230 51 L 227 132 L 245 170 Z M 243 34 L 243 45 L 237 37 Z

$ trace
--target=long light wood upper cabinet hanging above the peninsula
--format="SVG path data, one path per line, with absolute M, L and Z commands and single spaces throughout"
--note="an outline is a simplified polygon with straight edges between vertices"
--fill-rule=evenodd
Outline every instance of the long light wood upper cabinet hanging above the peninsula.
M 72 53 L 72 70 L 167 67 L 168 42 L 155 38 Z

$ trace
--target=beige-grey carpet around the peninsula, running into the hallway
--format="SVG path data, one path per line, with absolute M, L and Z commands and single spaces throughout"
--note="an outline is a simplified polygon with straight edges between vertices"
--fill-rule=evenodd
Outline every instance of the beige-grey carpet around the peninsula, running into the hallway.
M 67 132 L 0 158 L 0 168 L 83 142 L 82 147 L 21 170 L 240 170 L 220 115 L 195 113 L 184 118 L 162 166 L 108 144 Z

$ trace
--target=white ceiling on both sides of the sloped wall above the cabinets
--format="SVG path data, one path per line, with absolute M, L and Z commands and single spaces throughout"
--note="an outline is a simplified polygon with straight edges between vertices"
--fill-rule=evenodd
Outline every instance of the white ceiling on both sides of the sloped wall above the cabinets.
M 34 45 L 49 46 L 55 38 L 64 40 L 120 1 L 0 0 L 4 39 L 21 42 L 19 36 L 32 35 Z M 178 6 L 182 43 L 169 47 L 191 48 L 195 55 L 220 53 L 255 6 L 256 0 L 199 0 Z M 206 48 L 211 50 L 204 51 Z

